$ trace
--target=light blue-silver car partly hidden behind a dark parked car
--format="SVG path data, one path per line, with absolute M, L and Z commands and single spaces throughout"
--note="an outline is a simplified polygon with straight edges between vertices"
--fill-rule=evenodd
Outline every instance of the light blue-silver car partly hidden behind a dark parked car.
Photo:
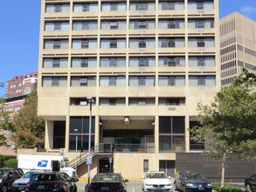
M 27 182 L 30 181 L 30 177 L 32 174 L 36 173 L 42 173 L 43 171 L 38 171 L 38 170 L 31 170 L 26 172 L 21 178 L 15 180 L 15 182 L 12 183 L 12 191 L 17 192 L 17 191 L 23 191 L 26 187 Z

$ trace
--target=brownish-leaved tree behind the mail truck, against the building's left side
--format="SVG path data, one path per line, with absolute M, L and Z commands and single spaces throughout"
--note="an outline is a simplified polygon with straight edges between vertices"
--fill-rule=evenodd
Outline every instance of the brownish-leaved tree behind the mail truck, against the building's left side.
M 28 95 L 24 106 L 13 118 L 16 126 L 13 140 L 17 147 L 44 147 L 45 120 L 38 118 L 37 113 L 38 94 L 34 91 Z

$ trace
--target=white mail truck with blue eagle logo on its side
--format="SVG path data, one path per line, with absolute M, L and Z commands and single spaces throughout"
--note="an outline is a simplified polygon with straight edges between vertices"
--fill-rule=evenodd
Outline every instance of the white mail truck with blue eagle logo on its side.
M 71 177 L 76 176 L 76 171 L 69 166 L 66 156 L 19 154 L 17 167 L 22 168 L 24 173 L 34 169 L 61 171 L 66 172 Z

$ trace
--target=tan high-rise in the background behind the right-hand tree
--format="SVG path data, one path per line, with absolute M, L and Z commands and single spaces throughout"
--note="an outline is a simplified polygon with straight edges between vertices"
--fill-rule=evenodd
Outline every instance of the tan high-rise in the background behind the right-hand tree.
M 228 86 L 243 68 L 256 72 L 256 21 L 234 12 L 219 24 L 221 85 Z

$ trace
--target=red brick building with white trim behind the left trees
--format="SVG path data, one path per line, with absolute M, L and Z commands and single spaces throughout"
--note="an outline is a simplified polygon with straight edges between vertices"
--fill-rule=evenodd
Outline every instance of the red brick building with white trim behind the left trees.
M 15 76 L 13 79 L 7 81 L 5 110 L 11 112 L 10 118 L 17 113 L 24 105 L 24 98 L 36 90 L 38 86 L 38 72 L 31 72 L 24 76 Z M 10 137 L 10 131 L 0 129 L 0 134 L 4 134 L 7 138 Z M 15 143 L 7 141 L 5 145 L 0 147 L 0 154 L 16 155 L 13 148 Z

